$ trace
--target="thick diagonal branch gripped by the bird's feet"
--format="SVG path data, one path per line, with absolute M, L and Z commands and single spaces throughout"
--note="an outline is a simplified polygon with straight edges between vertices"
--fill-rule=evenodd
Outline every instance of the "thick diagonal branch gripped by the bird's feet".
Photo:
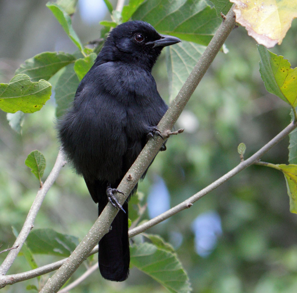
M 219 52 L 220 48 L 222 47 L 223 43 L 227 39 L 234 26 L 235 15 L 232 9 L 230 9 L 228 14 L 226 15 L 226 19 L 222 21 L 222 24 L 219 26 L 211 42 L 200 57 L 200 60 L 195 65 L 193 71 L 182 86 L 173 103 L 170 105 L 168 111 L 165 113 L 164 117 L 158 124 L 158 129 L 160 129 L 164 137 L 166 136 L 166 133 L 170 132 L 170 130 L 172 129 L 178 116 L 184 109 L 186 103 L 190 99 L 190 96 L 197 87 L 199 81 L 205 74 L 211 62 L 214 60 L 214 57 Z M 162 145 L 162 142 L 163 140 L 160 137 L 155 138 L 155 140 L 150 139 L 132 167 L 124 176 L 118 187 L 125 194 L 117 194 L 120 204 L 123 204 L 124 201 L 127 199 L 128 195 L 140 179 L 141 175 L 145 172 L 151 161 L 156 156 Z M 83 238 L 75 251 L 73 251 L 67 261 L 60 267 L 60 269 L 50 279 L 48 279 L 47 283 L 40 291 L 41 293 L 58 292 L 61 286 L 63 286 L 63 284 L 70 278 L 70 276 L 75 272 L 75 270 L 79 267 L 83 260 L 86 259 L 86 257 L 89 255 L 90 251 L 98 243 L 98 241 L 109 231 L 109 227 L 117 212 L 118 211 L 113 208 L 110 203 L 106 205 L 97 221 L 91 227 L 88 234 Z

